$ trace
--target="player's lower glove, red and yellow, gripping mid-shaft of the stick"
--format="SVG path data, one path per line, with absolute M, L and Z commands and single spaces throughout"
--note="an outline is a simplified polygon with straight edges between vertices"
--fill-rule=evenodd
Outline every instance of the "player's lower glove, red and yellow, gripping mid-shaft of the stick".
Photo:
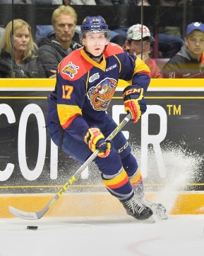
M 84 140 L 92 152 L 99 150 L 99 153 L 97 154 L 99 157 L 107 157 L 112 149 L 112 141 L 105 141 L 104 135 L 101 133 L 100 129 L 96 127 L 88 129 L 88 133 L 86 133 Z

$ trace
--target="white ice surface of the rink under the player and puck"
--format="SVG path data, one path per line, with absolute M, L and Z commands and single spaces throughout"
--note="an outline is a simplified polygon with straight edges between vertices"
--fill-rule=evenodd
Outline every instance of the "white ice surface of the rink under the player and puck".
M 27 230 L 38 226 L 38 230 Z M 123 218 L 20 218 L 0 220 L 0 256 L 203 255 L 204 216 L 169 216 L 138 223 Z

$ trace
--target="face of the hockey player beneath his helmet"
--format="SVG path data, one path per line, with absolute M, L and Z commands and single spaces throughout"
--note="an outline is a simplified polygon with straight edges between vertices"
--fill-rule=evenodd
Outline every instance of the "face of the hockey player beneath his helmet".
M 86 33 L 83 45 L 92 55 L 99 56 L 107 45 L 107 38 L 104 33 Z

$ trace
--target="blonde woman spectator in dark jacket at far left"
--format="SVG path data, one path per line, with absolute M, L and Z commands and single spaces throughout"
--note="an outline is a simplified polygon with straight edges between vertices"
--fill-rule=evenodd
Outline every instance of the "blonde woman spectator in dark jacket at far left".
M 30 25 L 21 19 L 13 21 L 13 46 L 11 34 L 12 21 L 6 26 L 0 43 L 0 77 L 44 77 L 35 52 Z

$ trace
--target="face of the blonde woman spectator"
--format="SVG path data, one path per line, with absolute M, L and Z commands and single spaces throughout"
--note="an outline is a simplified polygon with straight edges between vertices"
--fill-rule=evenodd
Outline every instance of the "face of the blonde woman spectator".
M 30 33 L 28 28 L 18 28 L 13 33 L 13 49 L 17 52 L 28 50 Z

